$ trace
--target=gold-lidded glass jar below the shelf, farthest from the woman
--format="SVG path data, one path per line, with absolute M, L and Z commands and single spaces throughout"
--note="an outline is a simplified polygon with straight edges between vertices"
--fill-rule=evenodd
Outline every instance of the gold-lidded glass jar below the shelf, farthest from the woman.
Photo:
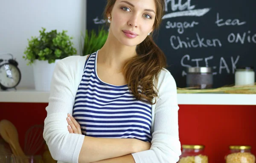
M 255 156 L 251 153 L 251 146 L 230 146 L 225 156 L 226 163 L 255 163 Z

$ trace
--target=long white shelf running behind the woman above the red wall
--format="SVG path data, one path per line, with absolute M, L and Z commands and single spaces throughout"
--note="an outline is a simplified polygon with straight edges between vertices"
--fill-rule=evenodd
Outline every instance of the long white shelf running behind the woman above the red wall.
M 48 103 L 48 98 L 49 92 L 38 92 L 28 89 L 0 91 L 0 102 Z M 178 104 L 256 105 L 256 94 L 178 94 Z

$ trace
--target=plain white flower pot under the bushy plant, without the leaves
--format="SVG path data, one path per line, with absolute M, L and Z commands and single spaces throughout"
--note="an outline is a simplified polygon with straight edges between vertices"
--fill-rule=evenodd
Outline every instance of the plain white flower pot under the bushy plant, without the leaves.
M 59 60 L 60 59 L 56 59 L 55 63 L 51 63 L 51 64 L 49 64 L 48 61 L 35 60 L 35 62 L 33 63 L 35 90 L 37 91 L 50 90 L 52 73 L 56 63 Z

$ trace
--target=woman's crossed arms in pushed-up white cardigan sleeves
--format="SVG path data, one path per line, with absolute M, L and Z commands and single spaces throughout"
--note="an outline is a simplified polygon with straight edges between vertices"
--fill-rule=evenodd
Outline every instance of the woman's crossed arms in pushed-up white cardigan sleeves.
M 57 62 L 46 107 L 43 136 L 55 160 L 67 163 L 134 163 L 134 160 L 136 163 L 176 163 L 179 160 L 177 92 L 175 80 L 167 70 L 160 73 L 157 85 L 160 100 L 155 106 L 152 145 L 145 145 L 137 139 L 93 138 L 67 131 L 65 118 L 72 112 L 77 85 L 81 82 L 74 74 L 84 66 L 73 60 L 76 58 L 67 57 Z

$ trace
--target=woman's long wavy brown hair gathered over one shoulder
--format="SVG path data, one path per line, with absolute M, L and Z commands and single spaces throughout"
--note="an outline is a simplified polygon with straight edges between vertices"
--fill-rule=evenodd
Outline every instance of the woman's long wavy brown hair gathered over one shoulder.
M 116 0 L 108 0 L 104 11 L 106 18 L 111 13 L 115 2 Z M 153 28 L 157 30 L 164 14 L 165 0 L 155 0 L 155 4 L 156 18 Z M 153 79 L 157 79 L 157 74 L 166 67 L 166 56 L 154 43 L 151 35 L 137 45 L 136 52 L 138 55 L 128 59 L 123 66 L 126 82 L 128 82 L 128 87 L 137 100 L 155 104 L 156 101 L 152 103 L 152 100 L 158 95 L 154 89 L 156 87 Z

